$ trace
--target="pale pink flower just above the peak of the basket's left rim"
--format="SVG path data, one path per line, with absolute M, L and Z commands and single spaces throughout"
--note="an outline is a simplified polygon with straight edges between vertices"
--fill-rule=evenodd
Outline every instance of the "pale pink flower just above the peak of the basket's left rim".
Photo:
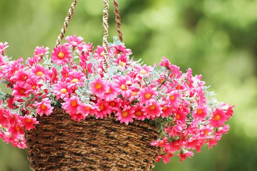
M 54 84 L 53 86 L 53 93 L 56 95 L 56 99 L 60 99 L 60 98 L 66 98 L 69 97 L 69 94 L 72 91 L 70 90 L 70 88 L 68 88 L 68 85 L 66 83 L 63 82 L 59 82 L 57 84 Z

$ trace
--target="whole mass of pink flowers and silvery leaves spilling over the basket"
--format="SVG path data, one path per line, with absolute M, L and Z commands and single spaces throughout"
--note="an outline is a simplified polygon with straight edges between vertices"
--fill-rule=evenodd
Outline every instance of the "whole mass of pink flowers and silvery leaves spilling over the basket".
M 229 130 L 225 122 L 233 107 L 220 103 L 207 91 L 201 75 L 182 73 L 166 58 L 153 66 L 131 57 L 131 50 L 114 40 L 108 47 L 104 72 L 104 48 L 93 50 L 83 38 L 68 36 L 49 55 L 37 47 L 33 58 L 11 61 L 0 43 L 0 83 L 11 93 L 0 92 L 0 138 L 25 148 L 24 131 L 35 128 L 36 117 L 50 115 L 54 107 L 66 110 L 78 122 L 113 115 L 124 124 L 135 120 L 155 124 L 160 132 L 152 146 L 164 149 L 164 163 L 172 155 L 181 160 L 210 148 Z M 8 92 L 8 91 L 7 91 Z

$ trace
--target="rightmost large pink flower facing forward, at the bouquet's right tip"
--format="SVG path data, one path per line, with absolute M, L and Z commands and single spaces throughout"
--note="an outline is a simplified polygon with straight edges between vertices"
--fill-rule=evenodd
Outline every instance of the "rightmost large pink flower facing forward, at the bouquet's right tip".
M 213 127 L 220 127 L 224 125 L 225 121 L 227 121 L 228 119 L 229 119 L 229 116 L 226 115 L 226 111 L 220 108 L 216 108 L 213 111 L 209 122 L 210 122 L 210 125 Z

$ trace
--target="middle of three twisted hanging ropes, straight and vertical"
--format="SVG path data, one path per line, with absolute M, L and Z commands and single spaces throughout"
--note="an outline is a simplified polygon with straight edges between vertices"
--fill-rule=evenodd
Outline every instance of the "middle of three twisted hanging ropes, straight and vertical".
M 104 29 L 104 34 L 103 34 L 103 71 L 107 71 L 107 58 L 108 58 L 108 10 L 109 10 L 109 0 L 104 0 L 104 9 L 103 9 L 103 29 Z

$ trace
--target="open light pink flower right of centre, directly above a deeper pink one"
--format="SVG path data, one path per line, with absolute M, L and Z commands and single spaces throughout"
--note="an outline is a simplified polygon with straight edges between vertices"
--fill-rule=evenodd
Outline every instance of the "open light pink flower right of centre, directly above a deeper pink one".
M 158 92 L 156 91 L 156 88 L 152 86 L 147 86 L 144 89 L 141 88 L 138 92 L 138 95 L 140 96 L 138 100 L 140 101 L 140 104 L 148 104 L 155 101 L 155 96 L 158 95 Z

